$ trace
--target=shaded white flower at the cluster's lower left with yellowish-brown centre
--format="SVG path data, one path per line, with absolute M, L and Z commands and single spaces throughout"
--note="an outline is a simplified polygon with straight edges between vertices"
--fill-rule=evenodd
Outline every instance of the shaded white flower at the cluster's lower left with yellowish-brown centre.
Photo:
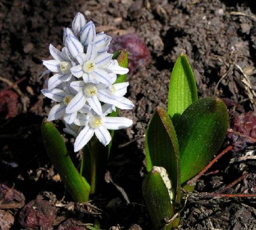
M 76 91 L 72 89 L 68 82 L 62 83 L 63 89 L 54 88 L 52 90 L 43 89 L 41 92 L 48 98 L 51 98 L 53 101 L 58 102 L 51 108 L 51 111 L 48 115 L 47 120 L 53 121 L 59 118 L 64 118 L 64 121 L 67 124 L 72 124 L 77 117 L 77 111 L 74 113 L 67 114 L 65 109 L 70 101 L 76 95 Z M 81 107 L 82 109 L 83 107 Z

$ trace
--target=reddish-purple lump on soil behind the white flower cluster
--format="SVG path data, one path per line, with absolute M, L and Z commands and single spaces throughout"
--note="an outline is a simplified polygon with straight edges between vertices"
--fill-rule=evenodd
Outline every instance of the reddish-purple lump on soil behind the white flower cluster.
M 131 73 L 149 63 L 151 55 L 149 48 L 142 42 L 137 34 L 125 34 L 112 38 L 109 52 L 114 53 L 120 49 L 128 50 L 128 68 Z

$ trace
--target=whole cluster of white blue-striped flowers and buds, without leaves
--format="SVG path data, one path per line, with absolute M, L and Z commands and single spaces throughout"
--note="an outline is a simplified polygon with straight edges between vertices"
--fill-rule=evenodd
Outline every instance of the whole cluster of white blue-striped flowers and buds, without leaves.
M 117 83 L 116 74 L 126 74 L 113 54 L 107 53 L 111 37 L 96 34 L 92 21 L 77 13 L 72 29 L 64 28 L 62 50 L 50 45 L 54 58 L 44 60 L 43 65 L 54 75 L 48 80 L 48 88 L 41 92 L 57 102 L 49 113 L 48 121 L 63 118 L 64 131 L 76 140 L 74 150 L 82 149 L 95 133 L 103 145 L 111 136 L 108 129 L 126 128 L 132 120 L 125 117 L 107 116 L 115 108 L 132 109 L 133 103 L 124 97 L 128 82 Z

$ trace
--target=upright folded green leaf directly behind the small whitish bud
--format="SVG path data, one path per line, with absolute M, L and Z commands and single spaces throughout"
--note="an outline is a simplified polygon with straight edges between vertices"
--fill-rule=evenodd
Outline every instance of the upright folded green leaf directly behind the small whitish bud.
M 157 107 L 146 129 L 146 169 L 153 166 L 164 167 L 175 188 L 176 202 L 180 200 L 179 144 L 170 117 Z

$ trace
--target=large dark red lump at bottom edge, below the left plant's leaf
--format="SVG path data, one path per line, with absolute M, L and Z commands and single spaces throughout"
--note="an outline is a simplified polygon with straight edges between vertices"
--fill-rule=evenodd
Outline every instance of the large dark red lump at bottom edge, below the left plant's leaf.
M 23 228 L 48 230 L 56 218 L 57 208 L 50 201 L 37 196 L 21 210 L 19 222 Z

